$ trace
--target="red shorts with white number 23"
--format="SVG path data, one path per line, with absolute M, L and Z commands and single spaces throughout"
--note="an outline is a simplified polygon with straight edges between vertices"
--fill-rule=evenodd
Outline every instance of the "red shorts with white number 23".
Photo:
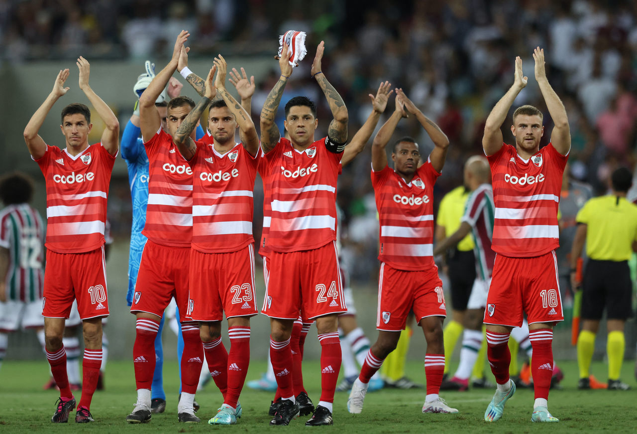
M 254 243 L 232 253 L 190 252 L 190 315 L 196 321 L 254 317 Z

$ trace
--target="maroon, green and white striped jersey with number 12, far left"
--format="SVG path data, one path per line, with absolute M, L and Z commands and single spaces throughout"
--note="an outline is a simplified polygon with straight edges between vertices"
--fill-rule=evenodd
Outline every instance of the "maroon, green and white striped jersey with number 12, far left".
M 29 204 L 10 205 L 0 211 L 0 246 L 9 251 L 6 296 L 11 301 L 42 298 L 44 225 Z

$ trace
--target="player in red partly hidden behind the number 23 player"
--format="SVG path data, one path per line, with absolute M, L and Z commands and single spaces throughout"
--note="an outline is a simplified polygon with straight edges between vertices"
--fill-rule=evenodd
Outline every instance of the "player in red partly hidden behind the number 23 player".
M 141 257 L 131 313 L 137 317 L 132 349 L 137 403 L 126 417 L 129 423 L 150 420 L 150 386 L 155 370 L 154 341 L 159 322 L 175 297 L 182 313 L 183 354 L 182 394 L 177 407 L 178 420 L 197 423 L 193 401 L 203 363 L 203 347 L 196 322 L 186 318 L 188 311 L 190 243 L 192 241 L 192 170 L 173 142 L 173 135 L 194 107 L 186 96 L 168 103 L 168 131 L 162 130 L 157 96 L 164 90 L 177 68 L 183 43 L 190 34 L 182 31 L 175 41 L 171 61 L 150 82 L 140 97 L 141 137 L 148 154 L 148 206 L 143 234 L 148 238 Z

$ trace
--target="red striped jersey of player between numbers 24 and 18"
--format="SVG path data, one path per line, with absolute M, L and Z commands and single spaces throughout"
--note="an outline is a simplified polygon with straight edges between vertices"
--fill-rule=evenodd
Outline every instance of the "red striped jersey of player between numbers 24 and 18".
M 433 188 L 439 176 L 428 158 L 409 184 L 389 166 L 371 171 L 380 221 L 380 262 L 406 271 L 436 266 Z

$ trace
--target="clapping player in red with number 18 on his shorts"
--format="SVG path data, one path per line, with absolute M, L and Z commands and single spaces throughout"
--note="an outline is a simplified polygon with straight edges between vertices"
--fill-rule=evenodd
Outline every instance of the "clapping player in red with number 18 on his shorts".
M 500 128 L 528 80 L 522 74 L 520 57 L 515 59 L 513 86 L 491 110 L 482 138 L 491 167 L 496 207 L 492 249 L 497 253 L 484 314 L 487 355 L 497 391 L 487 407 L 485 421 L 500 419 L 506 400 L 515 393 L 515 384 L 509 378 L 511 354 L 507 342 L 513 327 L 522 324 L 524 313 L 533 345 L 535 403 L 531 421 L 558 421 L 548 412 L 547 399 L 553 373 L 553 327 L 564 320 L 555 249 L 559 246 L 557 206 L 571 133 L 566 109 L 548 83 L 544 50 L 537 47 L 533 59 L 535 79 L 555 125 L 551 142 L 540 149 L 542 112 L 523 105 L 513 112 L 515 146 L 503 143 Z

